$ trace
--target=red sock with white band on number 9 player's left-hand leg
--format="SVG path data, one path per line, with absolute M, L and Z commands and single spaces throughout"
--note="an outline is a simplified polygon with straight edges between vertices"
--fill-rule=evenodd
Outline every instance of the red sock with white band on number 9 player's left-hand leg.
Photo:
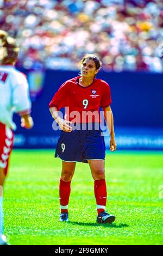
M 71 192 L 71 181 L 63 181 L 60 178 L 59 182 L 59 202 L 61 212 L 68 212 L 68 201 Z

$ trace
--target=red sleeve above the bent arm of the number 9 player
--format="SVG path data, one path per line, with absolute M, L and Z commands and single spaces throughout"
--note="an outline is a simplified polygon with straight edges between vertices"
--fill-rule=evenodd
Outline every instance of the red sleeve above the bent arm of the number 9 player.
M 62 107 L 66 106 L 66 99 L 67 99 L 67 81 L 61 85 L 58 89 L 57 93 L 54 94 L 53 99 L 49 103 L 49 107 L 57 107 L 60 110 Z

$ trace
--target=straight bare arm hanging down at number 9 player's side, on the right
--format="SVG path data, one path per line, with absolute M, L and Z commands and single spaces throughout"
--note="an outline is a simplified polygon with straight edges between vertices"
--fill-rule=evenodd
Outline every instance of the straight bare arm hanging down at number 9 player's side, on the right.
M 108 129 L 110 131 L 110 150 L 115 151 L 117 144 L 115 141 L 115 132 L 114 132 L 114 118 L 111 111 L 111 107 L 103 107 L 104 112 L 104 118 L 106 121 L 106 125 L 108 126 Z

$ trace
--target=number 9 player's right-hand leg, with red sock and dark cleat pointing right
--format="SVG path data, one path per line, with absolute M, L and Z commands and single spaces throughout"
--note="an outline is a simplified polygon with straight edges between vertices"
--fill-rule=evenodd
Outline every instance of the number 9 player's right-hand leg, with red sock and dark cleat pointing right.
M 88 160 L 92 177 L 95 180 L 94 191 L 97 203 L 97 222 L 111 223 L 115 220 L 114 215 L 105 212 L 106 206 L 106 181 L 105 181 L 105 161 L 104 160 Z

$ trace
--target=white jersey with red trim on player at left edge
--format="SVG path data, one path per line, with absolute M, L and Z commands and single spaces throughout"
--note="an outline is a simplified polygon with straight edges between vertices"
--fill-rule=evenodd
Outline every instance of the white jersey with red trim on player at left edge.
M 0 122 L 16 129 L 13 113 L 30 113 L 31 102 L 26 77 L 12 65 L 0 65 Z

